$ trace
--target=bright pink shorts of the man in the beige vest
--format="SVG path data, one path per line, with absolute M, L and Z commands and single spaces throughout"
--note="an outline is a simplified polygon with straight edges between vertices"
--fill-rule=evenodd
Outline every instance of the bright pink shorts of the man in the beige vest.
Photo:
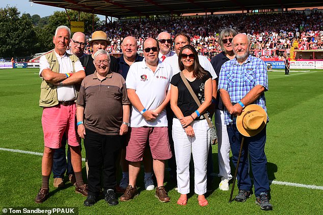
M 68 145 L 79 145 L 75 112 L 75 104 L 68 106 L 58 104 L 53 107 L 44 107 L 41 122 L 46 147 L 60 148 L 64 133 L 66 134 Z

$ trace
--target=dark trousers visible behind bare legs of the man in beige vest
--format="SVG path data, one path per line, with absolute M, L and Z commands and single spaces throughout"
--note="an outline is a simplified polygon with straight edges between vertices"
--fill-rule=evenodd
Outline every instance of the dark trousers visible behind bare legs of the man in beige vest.
M 67 138 L 66 135 L 63 135 L 61 147 L 55 149 L 53 155 L 53 163 L 51 171 L 53 173 L 54 178 L 64 178 L 64 173 L 66 175 L 74 174 L 72 162 L 71 162 L 71 149 L 67 148 L 67 162 L 66 162 L 66 143 Z M 79 145 L 80 149 L 82 149 L 81 145 Z

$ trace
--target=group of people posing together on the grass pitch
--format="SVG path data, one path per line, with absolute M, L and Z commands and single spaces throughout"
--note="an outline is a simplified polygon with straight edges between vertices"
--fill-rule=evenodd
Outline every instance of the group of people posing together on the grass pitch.
M 118 204 L 116 192 L 123 193 L 120 201 L 129 201 L 138 195 L 141 161 L 145 166 L 145 189 L 154 189 L 153 170 L 157 182 L 155 197 L 169 202 L 164 187 L 169 161 L 171 179 L 176 181 L 180 193 L 177 204 L 186 205 L 193 155 L 194 191 L 198 204 L 206 206 L 204 194 L 212 181 L 213 168 L 208 119 L 214 111 L 219 189 L 229 190 L 230 145 L 236 165 L 241 139 L 235 126 L 236 116 L 249 104 L 265 109 L 264 91 L 268 89 L 266 66 L 261 59 L 249 55 L 246 35 L 224 29 L 219 39 L 223 52 L 211 62 L 198 55 L 190 44 L 190 36 L 184 33 L 178 33 L 173 40 L 167 32 L 160 33 L 157 39 L 145 39 L 144 57 L 138 55 L 137 40 L 130 36 L 122 41 L 123 54 L 119 58 L 105 51 L 110 41 L 104 32 L 92 34 L 92 55 L 84 54 L 83 33 L 70 38 L 69 28 L 59 26 L 53 37 L 55 49 L 40 59 L 45 147 L 42 187 L 35 202 L 41 203 L 48 197 L 50 171 L 54 175 L 53 186 L 63 187 L 66 169 L 75 191 L 87 196 L 85 206 L 95 204 L 101 192 L 110 205 Z M 172 44 L 175 52 L 171 51 Z M 82 179 L 79 137 L 84 138 L 88 185 Z M 66 142 L 71 164 L 65 159 Z M 256 203 L 261 209 L 271 210 L 265 129 L 259 135 L 246 137 L 245 142 L 235 200 L 245 201 L 251 194 L 250 157 Z M 117 185 L 119 158 L 122 179 Z

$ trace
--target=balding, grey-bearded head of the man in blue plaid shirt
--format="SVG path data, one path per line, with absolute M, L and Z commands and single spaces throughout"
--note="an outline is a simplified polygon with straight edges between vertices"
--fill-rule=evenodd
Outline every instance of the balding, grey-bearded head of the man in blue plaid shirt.
M 250 40 L 245 34 L 237 34 L 233 40 L 233 52 L 239 63 L 245 62 L 249 55 Z

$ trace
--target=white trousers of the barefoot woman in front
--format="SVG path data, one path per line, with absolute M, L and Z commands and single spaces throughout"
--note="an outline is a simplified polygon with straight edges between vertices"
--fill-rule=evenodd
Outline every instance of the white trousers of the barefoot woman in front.
M 177 165 L 178 193 L 190 193 L 190 161 L 191 153 L 194 161 L 194 191 L 198 195 L 206 193 L 206 166 L 209 145 L 207 142 L 207 130 L 209 129 L 206 119 L 194 120 L 192 127 L 195 136 L 186 135 L 180 121 L 173 119 L 173 141 Z

